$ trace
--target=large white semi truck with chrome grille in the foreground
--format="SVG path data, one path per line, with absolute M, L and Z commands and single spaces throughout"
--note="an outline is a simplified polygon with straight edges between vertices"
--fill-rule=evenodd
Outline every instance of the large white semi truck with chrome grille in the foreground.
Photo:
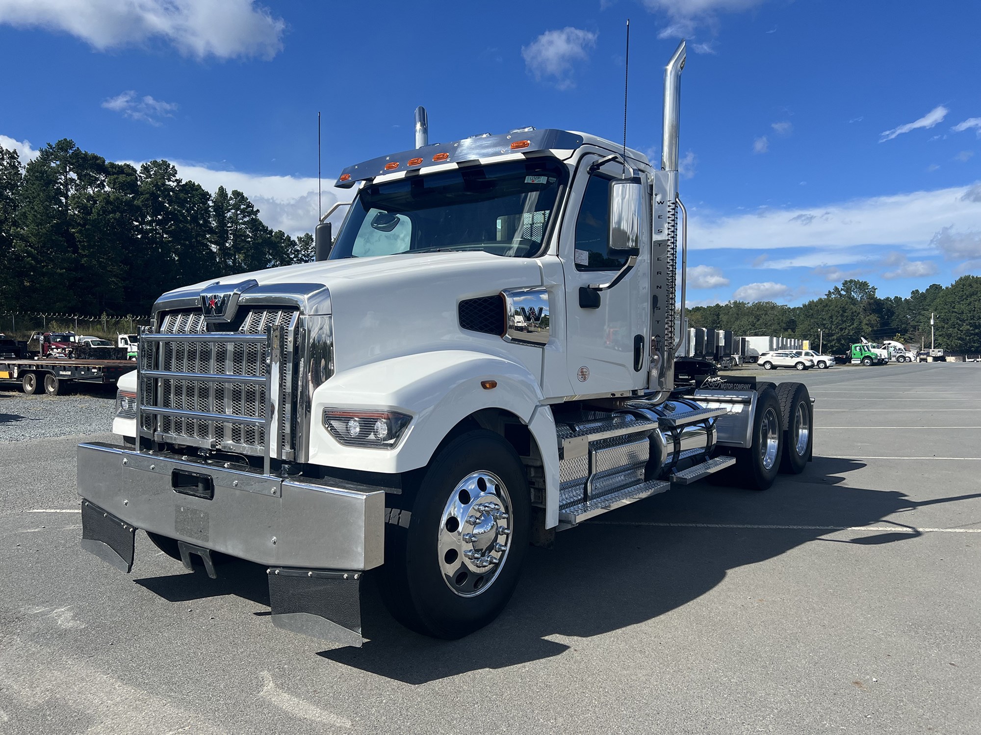
M 802 471 L 803 385 L 676 378 L 685 58 L 659 168 L 558 129 L 431 144 L 421 116 L 416 148 L 339 176 L 328 260 L 160 297 L 118 443 L 78 448 L 82 546 L 129 571 L 142 529 L 211 575 L 263 564 L 276 625 L 354 646 L 371 570 L 398 620 L 456 638 L 557 530 L 718 470 Z

